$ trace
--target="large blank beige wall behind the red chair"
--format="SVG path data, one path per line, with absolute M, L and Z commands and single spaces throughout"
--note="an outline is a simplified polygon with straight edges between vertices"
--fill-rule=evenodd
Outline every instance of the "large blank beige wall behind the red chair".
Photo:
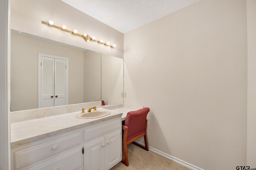
M 148 143 L 206 170 L 246 165 L 246 1 L 202 0 L 124 34 L 124 103 Z

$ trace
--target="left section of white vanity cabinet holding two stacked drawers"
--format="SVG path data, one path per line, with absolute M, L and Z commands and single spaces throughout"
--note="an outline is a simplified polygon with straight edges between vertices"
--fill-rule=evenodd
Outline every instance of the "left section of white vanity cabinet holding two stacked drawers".
M 13 170 L 82 169 L 81 131 L 71 131 L 12 148 Z

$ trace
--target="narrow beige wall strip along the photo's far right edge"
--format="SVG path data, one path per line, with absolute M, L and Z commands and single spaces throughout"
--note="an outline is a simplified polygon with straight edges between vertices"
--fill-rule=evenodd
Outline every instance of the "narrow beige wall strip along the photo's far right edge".
M 256 167 L 256 4 L 247 0 L 248 25 L 248 103 L 247 103 L 247 165 Z

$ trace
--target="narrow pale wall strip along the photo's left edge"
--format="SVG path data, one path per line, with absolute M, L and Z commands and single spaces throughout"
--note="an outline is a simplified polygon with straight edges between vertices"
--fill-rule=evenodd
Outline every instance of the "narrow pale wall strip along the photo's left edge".
M 0 1 L 0 170 L 10 169 L 9 6 L 8 0 Z

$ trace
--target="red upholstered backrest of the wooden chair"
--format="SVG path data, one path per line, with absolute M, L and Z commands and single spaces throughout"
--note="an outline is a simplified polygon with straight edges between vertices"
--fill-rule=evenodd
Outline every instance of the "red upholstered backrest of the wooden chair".
M 124 121 L 124 125 L 128 127 L 127 138 L 140 131 L 145 131 L 148 112 L 149 108 L 145 107 L 143 109 L 129 111 L 127 113 Z

